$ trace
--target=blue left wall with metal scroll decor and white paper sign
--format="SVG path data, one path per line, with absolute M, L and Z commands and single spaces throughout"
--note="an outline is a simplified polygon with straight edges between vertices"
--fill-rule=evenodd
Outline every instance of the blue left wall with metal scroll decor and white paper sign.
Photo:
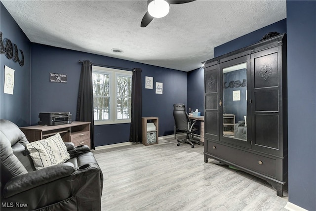
M 0 119 L 7 119 L 19 127 L 28 126 L 30 124 L 31 45 L 29 39 L 1 2 L 0 31 L 2 32 L 2 40 L 9 39 L 24 54 L 24 65 L 22 67 L 18 62 L 6 58 L 5 54 L 0 54 Z M 22 59 L 20 52 L 19 58 Z M 15 70 L 13 95 L 3 92 L 4 66 Z

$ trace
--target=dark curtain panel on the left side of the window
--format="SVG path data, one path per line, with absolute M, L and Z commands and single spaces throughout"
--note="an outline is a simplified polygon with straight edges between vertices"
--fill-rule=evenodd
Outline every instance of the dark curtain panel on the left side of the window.
M 76 121 L 91 122 L 90 124 L 91 149 L 95 149 L 94 147 L 92 64 L 88 60 L 85 60 L 82 62 L 78 100 L 77 100 Z

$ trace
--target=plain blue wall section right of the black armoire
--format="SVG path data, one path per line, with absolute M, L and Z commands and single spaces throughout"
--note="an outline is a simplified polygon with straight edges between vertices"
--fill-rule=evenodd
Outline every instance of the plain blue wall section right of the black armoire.
M 287 10 L 289 202 L 316 210 L 316 1 Z

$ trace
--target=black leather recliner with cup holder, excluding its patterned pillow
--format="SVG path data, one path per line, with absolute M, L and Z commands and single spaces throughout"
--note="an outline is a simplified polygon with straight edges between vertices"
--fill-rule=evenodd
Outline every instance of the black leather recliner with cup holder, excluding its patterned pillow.
M 88 146 L 65 143 L 71 159 L 36 170 L 28 143 L 19 127 L 0 120 L 1 211 L 101 210 L 103 174 Z

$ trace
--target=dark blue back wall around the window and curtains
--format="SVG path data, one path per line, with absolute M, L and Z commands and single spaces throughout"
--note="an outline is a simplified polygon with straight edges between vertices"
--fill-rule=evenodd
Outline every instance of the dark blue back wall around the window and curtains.
M 142 63 L 116 59 L 91 53 L 32 43 L 31 77 L 31 125 L 37 125 L 40 112 L 70 111 L 76 119 L 77 96 L 81 64 L 90 60 L 94 64 L 122 68 L 141 68 L 143 117 L 159 118 L 159 136 L 173 133 L 172 116 L 174 103 L 187 103 L 187 73 Z M 50 83 L 49 74 L 67 75 L 67 84 Z M 163 94 L 154 89 L 145 89 L 145 76 L 163 83 Z M 185 87 L 185 88 L 184 88 Z M 95 146 L 129 141 L 130 124 L 95 126 Z

